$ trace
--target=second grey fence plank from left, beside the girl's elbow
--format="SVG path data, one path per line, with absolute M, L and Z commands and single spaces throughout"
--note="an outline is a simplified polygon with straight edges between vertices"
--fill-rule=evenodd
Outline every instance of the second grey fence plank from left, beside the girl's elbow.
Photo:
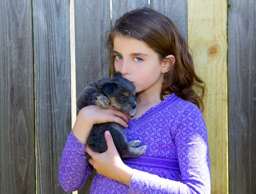
M 37 193 L 63 193 L 61 154 L 70 133 L 69 1 L 33 0 Z

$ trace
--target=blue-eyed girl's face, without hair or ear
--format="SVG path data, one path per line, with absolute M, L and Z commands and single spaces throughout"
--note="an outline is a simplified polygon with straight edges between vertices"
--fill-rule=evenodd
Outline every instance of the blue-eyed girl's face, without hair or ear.
M 158 55 L 142 41 L 124 36 L 113 39 L 115 70 L 133 82 L 136 93 L 144 90 L 159 90 L 162 87 L 162 66 Z

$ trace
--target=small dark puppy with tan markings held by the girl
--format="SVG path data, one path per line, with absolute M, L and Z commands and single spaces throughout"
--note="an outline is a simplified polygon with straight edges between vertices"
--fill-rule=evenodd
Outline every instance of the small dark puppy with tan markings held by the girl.
M 134 116 L 136 113 L 135 87 L 128 79 L 122 77 L 120 72 L 115 72 L 112 79 L 105 78 L 95 81 L 84 88 L 84 91 L 77 97 L 77 110 L 89 105 L 98 105 L 107 109 L 111 104 L 117 110 L 129 113 Z M 146 146 L 140 146 L 140 140 L 127 142 L 124 130 L 126 128 L 115 122 L 108 122 L 93 125 L 88 136 L 87 145 L 91 150 L 98 153 L 107 151 L 108 146 L 105 140 L 105 131 L 108 130 L 113 137 L 113 142 L 121 157 L 136 158 L 145 153 Z M 90 155 L 87 153 L 87 159 Z

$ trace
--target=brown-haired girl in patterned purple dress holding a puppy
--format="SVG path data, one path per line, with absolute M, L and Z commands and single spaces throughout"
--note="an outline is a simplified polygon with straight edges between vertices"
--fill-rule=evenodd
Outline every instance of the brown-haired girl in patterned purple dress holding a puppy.
M 80 110 L 62 154 L 62 188 L 79 190 L 95 168 L 91 194 L 209 194 L 207 129 L 200 111 L 204 82 L 177 27 L 159 12 L 136 9 L 116 21 L 108 45 L 110 74 L 120 71 L 133 82 L 137 113 L 131 118 L 96 105 Z M 201 97 L 193 86 L 201 89 Z M 105 153 L 86 147 L 93 124 L 104 122 L 127 127 L 128 142 L 141 140 L 145 153 L 122 162 L 108 131 Z

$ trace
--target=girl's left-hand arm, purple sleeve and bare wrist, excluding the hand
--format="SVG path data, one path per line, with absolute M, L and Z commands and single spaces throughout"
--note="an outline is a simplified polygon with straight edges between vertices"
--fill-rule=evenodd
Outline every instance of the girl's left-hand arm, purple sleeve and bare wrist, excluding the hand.
M 85 108 L 79 111 L 62 153 L 59 182 L 66 192 L 79 190 L 93 169 L 85 152 L 87 137 L 93 127 L 93 122 L 90 122 L 86 113 Z

